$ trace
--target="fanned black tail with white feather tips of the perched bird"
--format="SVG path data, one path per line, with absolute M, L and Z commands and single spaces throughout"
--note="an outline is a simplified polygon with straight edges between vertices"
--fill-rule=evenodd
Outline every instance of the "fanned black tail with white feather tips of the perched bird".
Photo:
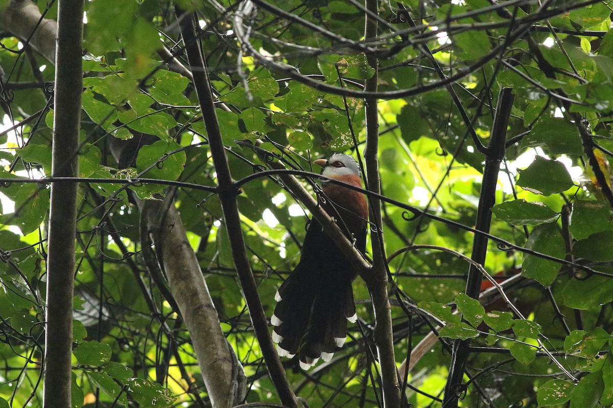
M 330 361 L 345 344 L 347 321 L 357 319 L 351 278 L 338 270 L 326 272 L 314 272 L 301 262 L 275 295 L 273 340 L 279 355 L 297 354 L 303 369 L 320 357 Z

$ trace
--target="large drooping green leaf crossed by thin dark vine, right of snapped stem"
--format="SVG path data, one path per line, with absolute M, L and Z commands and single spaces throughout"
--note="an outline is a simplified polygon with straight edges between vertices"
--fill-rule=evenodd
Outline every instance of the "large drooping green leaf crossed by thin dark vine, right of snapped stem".
M 555 224 L 543 224 L 530 232 L 525 247 L 539 253 L 564 258 L 566 250 L 562 234 Z M 536 255 L 525 254 L 522 276 L 535 279 L 543 286 L 552 284 L 562 268 L 561 264 Z

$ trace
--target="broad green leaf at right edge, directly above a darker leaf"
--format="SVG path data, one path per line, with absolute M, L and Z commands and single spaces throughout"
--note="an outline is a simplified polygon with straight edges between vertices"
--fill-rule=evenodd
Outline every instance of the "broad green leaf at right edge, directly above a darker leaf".
M 582 240 L 596 232 L 613 229 L 611 209 L 608 204 L 598 201 L 581 201 L 573 203 L 571 221 L 568 231 L 573 238 Z

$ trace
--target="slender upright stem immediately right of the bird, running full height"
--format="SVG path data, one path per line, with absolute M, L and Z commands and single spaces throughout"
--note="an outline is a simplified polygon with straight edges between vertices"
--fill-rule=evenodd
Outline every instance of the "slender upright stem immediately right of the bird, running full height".
M 378 15 L 378 0 L 366 0 L 366 9 Z M 365 16 L 364 38 L 373 39 L 377 35 L 378 24 L 374 18 Z M 375 56 L 367 56 L 368 64 L 375 69 L 374 75 L 365 81 L 365 91 L 376 92 L 378 81 L 378 60 Z M 366 162 L 367 188 L 375 193 L 381 193 L 379 185 L 379 113 L 376 98 L 365 100 L 366 109 Z M 373 301 L 375 311 L 375 344 L 381 365 L 381 382 L 383 385 L 383 405 L 385 408 L 400 407 L 400 387 L 394 356 L 394 338 L 392 333 L 392 311 L 387 296 L 387 268 L 385 248 L 383 246 L 383 221 L 381 219 L 381 202 L 370 199 L 371 242 L 373 245 L 373 268 L 365 277 L 368 291 Z

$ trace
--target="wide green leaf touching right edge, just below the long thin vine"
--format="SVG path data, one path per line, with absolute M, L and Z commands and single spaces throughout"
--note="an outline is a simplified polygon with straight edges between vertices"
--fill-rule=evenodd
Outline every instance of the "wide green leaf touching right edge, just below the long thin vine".
M 585 280 L 573 278 L 566 283 L 562 297 L 569 308 L 590 310 L 613 302 L 613 280 L 599 275 L 592 275 Z

